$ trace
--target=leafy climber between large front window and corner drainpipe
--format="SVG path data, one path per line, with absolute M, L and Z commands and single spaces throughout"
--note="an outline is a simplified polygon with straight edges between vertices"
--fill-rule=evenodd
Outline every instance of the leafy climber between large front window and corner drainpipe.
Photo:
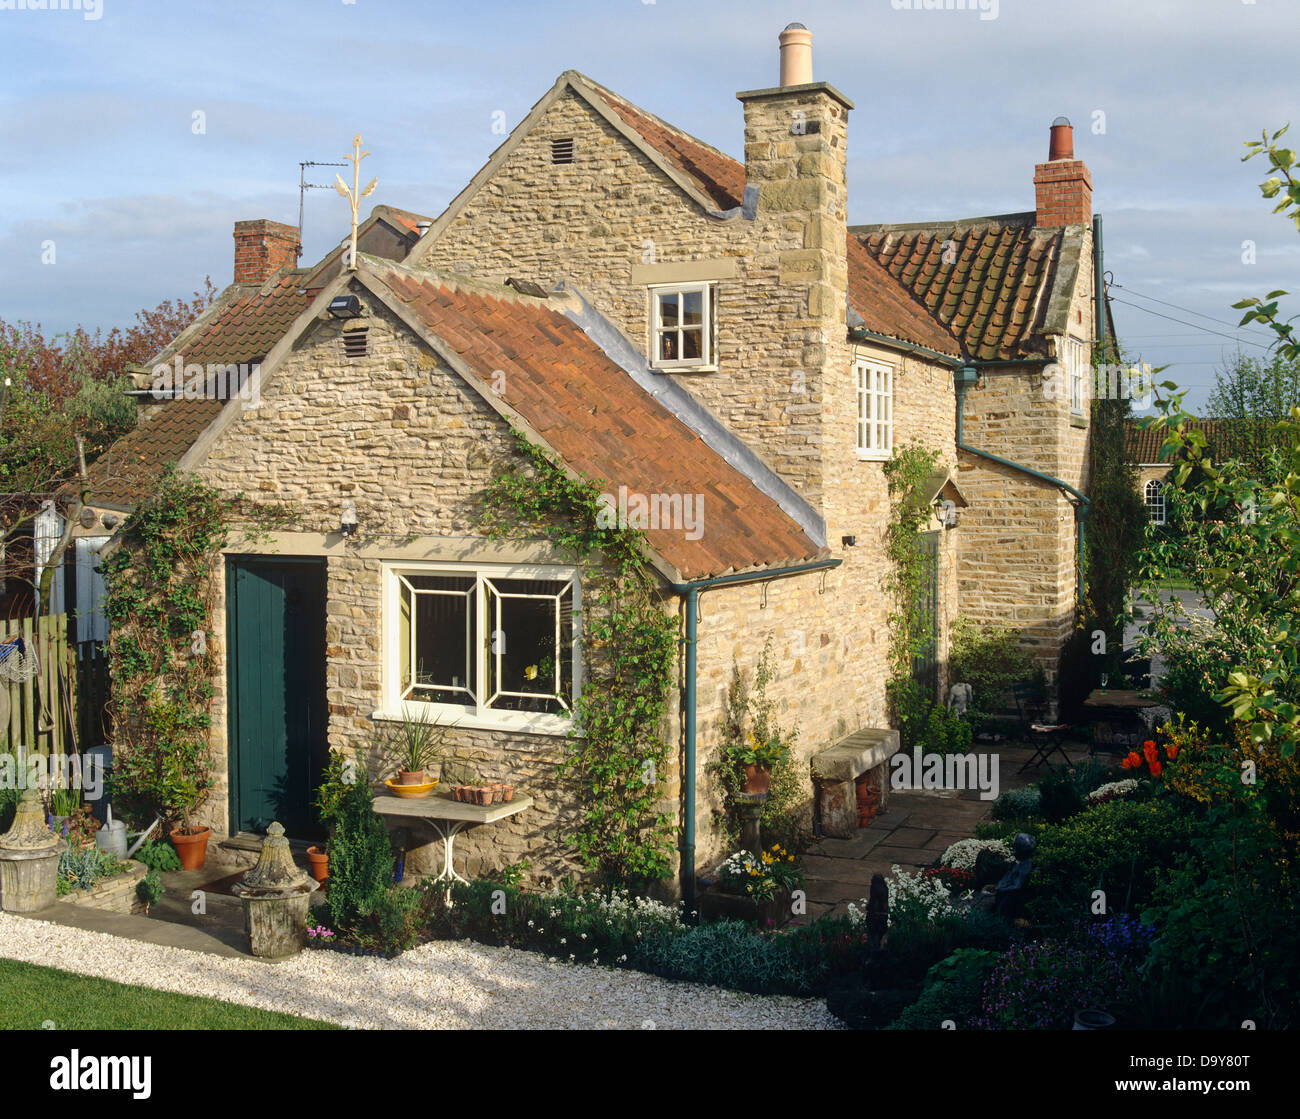
M 581 806 L 573 842 L 582 863 L 607 881 L 667 877 L 673 817 L 658 806 L 676 619 L 663 610 L 644 533 L 604 526 L 599 485 L 571 478 L 512 434 L 519 459 L 488 486 L 481 525 L 495 537 L 543 533 L 578 561 L 602 564 L 584 580 L 585 686 L 560 764 Z

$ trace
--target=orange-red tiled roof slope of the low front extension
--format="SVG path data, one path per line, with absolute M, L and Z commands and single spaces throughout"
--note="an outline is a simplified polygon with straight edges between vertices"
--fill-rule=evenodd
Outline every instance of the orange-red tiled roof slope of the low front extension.
M 607 493 L 703 496 L 702 534 L 650 528 L 650 546 L 686 578 L 823 555 L 763 494 L 545 300 L 381 270 L 391 294 L 580 474 Z M 694 534 L 694 533 L 692 533 Z

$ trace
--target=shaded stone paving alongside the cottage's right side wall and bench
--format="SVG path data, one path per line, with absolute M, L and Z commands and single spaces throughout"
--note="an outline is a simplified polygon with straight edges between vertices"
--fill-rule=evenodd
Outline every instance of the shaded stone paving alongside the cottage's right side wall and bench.
M 998 756 L 998 791 L 1023 789 L 1039 778 L 1044 767 L 1019 768 L 1034 756 L 1022 742 L 1002 742 L 993 750 Z M 1066 742 L 1065 751 L 1075 764 L 1088 756 L 1084 742 Z M 1060 760 L 1060 759 L 1058 759 Z M 975 825 L 989 815 L 992 801 L 982 801 L 979 790 L 890 790 L 889 811 L 881 812 L 866 828 L 848 840 L 823 838 L 803 854 L 807 914 L 796 923 L 846 912 L 849 902 L 867 895 L 872 875 L 888 875 L 893 866 L 905 869 L 933 866 L 958 840 L 975 834 Z

